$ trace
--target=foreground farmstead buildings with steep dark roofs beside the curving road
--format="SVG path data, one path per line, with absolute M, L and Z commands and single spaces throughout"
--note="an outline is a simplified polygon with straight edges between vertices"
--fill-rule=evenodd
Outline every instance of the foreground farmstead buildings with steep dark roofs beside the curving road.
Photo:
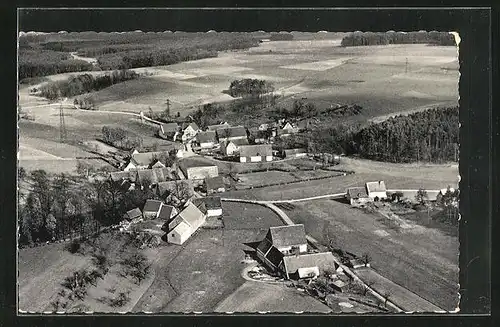
M 269 270 L 286 279 L 312 278 L 338 269 L 331 252 L 309 251 L 302 224 L 269 228 L 256 252 Z

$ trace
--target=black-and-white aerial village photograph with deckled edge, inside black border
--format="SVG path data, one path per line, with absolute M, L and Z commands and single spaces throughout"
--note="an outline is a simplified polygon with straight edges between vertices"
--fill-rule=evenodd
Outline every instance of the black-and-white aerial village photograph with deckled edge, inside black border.
M 18 311 L 457 312 L 459 42 L 20 24 Z

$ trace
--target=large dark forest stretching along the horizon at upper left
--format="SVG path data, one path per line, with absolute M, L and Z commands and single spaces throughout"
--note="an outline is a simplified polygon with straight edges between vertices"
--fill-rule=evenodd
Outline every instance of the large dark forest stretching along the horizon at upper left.
M 218 51 L 257 46 L 247 33 L 68 33 L 23 35 L 19 39 L 19 79 L 89 70 L 170 65 L 216 57 Z M 76 52 L 98 67 L 70 59 Z

